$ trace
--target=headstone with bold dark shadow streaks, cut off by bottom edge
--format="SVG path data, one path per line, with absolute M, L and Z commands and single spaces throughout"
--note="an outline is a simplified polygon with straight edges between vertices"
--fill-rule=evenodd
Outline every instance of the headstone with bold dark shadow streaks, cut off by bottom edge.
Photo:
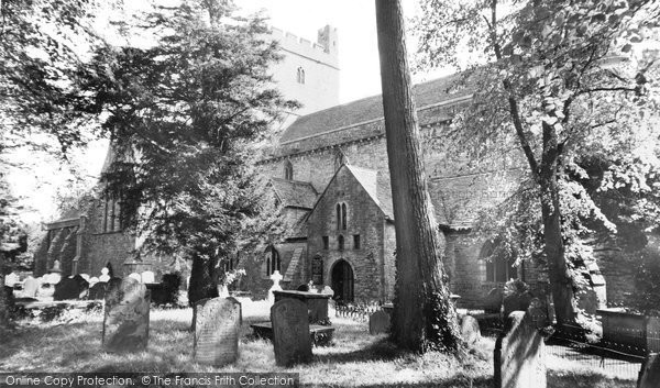
M 544 346 L 529 313 L 512 312 L 495 342 L 494 387 L 546 388 Z

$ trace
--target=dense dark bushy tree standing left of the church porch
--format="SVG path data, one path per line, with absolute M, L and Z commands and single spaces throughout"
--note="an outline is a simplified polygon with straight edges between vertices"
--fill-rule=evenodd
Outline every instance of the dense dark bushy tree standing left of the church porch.
M 142 252 L 194 259 L 191 302 L 217 292 L 219 260 L 279 233 L 252 145 L 297 104 L 273 89 L 279 54 L 263 21 L 232 12 L 228 1 L 157 8 L 141 24 L 152 46 L 106 46 L 80 75 L 116 151 L 108 195 Z

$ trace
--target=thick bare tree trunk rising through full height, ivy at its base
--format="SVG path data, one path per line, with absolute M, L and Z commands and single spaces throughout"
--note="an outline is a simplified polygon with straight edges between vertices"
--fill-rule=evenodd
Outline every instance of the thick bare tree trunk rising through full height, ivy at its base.
M 420 158 L 400 1 L 376 0 L 376 24 L 396 229 L 392 335 L 402 348 L 453 351 L 460 345 L 455 310 Z

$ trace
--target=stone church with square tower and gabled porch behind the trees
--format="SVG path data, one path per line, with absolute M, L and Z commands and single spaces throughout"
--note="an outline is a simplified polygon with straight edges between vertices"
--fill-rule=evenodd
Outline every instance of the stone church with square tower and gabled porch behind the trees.
M 290 112 L 276 142 L 263 149 L 258 168 L 283 206 L 287 233 L 250 259 L 239 259 L 246 276 L 238 285 L 265 297 L 271 275 L 295 289 L 330 286 L 343 301 L 391 301 L 395 284 L 395 231 L 381 96 L 339 104 L 337 30 L 326 26 L 316 43 L 273 29 L 285 54 L 273 68 L 287 98 L 304 107 Z M 450 288 L 464 307 L 479 308 L 493 288 L 519 278 L 543 291 L 547 276 L 532 263 L 514 265 L 492 256 L 493 243 L 471 232 L 480 211 L 503 201 L 525 171 L 520 155 L 490 159 L 447 144 L 443 131 L 471 99 L 455 77 L 414 89 L 429 191 L 446 236 Z M 109 153 L 107 165 L 114 156 Z M 36 275 L 55 259 L 68 274 L 98 276 L 110 265 L 116 276 L 151 269 L 162 275 L 178 265 L 170 257 L 135 260 L 135 239 L 119 222 L 119 203 L 95 198 L 82 214 L 48 223 L 36 259 Z M 179 268 L 180 269 L 180 268 Z M 598 267 L 592 286 L 605 295 Z

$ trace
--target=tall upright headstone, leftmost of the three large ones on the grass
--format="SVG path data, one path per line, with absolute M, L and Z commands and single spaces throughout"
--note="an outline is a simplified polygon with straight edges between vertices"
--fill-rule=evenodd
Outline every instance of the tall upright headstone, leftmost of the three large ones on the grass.
M 107 352 L 138 352 L 148 341 L 150 295 L 140 281 L 124 278 L 108 284 L 102 345 Z

